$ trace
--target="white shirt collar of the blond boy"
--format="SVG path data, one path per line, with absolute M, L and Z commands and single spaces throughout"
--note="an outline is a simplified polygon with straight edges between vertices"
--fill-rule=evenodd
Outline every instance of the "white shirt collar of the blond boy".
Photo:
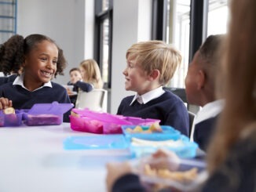
M 135 100 L 137 100 L 138 97 L 141 97 L 142 103 L 145 104 L 145 103 L 148 103 L 148 102 L 151 101 L 151 100 L 154 100 L 155 98 L 157 98 L 157 97 L 159 97 L 159 96 L 162 96 L 164 92 L 165 92 L 165 91 L 163 90 L 163 86 L 160 86 L 160 87 L 158 87 L 158 88 L 156 88 L 156 89 L 153 89 L 153 90 L 151 90 L 151 91 L 149 91 L 149 92 L 144 93 L 144 94 L 141 95 L 141 96 L 136 93 L 136 95 L 133 97 L 133 100 L 132 100 L 132 102 L 130 103 L 130 105 L 131 105 Z

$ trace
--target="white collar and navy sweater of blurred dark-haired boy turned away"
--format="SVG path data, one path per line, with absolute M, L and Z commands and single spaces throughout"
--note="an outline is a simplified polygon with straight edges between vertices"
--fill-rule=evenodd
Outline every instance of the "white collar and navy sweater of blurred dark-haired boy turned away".
M 214 102 L 207 103 L 196 114 L 190 139 L 198 143 L 201 150 L 207 150 L 223 105 L 224 100 L 215 100 Z

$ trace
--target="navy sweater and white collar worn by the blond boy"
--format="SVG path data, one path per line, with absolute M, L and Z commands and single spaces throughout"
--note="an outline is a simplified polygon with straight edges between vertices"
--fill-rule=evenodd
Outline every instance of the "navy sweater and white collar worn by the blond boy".
M 142 96 L 125 97 L 117 114 L 159 119 L 160 125 L 170 125 L 188 136 L 188 110 L 185 104 L 174 93 L 163 90 L 162 86 Z

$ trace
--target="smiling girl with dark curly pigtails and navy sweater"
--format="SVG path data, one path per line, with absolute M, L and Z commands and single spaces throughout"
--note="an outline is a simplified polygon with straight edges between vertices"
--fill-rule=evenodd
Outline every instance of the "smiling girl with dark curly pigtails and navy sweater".
M 0 109 L 30 109 L 35 103 L 70 103 L 63 86 L 50 82 L 63 74 L 66 60 L 62 49 L 42 34 L 27 38 L 13 35 L 0 49 L 0 68 L 4 73 L 20 74 L 14 82 L 0 86 Z M 68 113 L 64 121 L 69 121 Z

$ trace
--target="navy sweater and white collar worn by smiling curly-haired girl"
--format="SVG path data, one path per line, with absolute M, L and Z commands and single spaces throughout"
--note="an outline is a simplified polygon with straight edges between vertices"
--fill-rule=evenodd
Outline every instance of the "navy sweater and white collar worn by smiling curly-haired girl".
M 24 87 L 24 76 L 16 77 L 14 82 L 6 83 L 0 86 L 0 97 L 8 98 L 13 101 L 15 109 L 31 109 L 35 103 L 71 103 L 66 89 L 62 85 L 54 82 L 48 82 L 29 91 Z M 70 110 L 64 114 L 64 121 L 69 121 Z

